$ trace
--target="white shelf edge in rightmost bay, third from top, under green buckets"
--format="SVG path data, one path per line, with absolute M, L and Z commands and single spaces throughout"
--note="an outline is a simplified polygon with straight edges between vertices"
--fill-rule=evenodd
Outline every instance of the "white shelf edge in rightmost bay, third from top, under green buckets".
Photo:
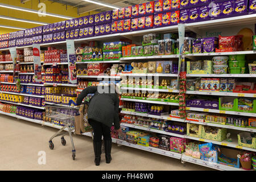
M 256 77 L 256 74 L 187 74 L 187 77 Z

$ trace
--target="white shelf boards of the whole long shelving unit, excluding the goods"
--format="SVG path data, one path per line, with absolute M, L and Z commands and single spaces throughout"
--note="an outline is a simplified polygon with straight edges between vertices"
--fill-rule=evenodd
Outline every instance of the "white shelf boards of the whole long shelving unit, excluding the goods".
M 236 16 L 236 17 L 230 17 L 230 18 L 222 18 L 222 19 L 215 19 L 215 20 L 208 20 L 204 22 L 196 22 L 196 23 L 186 23 L 185 28 L 186 30 L 192 30 L 193 32 L 198 33 L 201 35 L 201 32 L 203 30 L 209 30 L 210 28 L 218 28 L 218 27 L 230 27 L 230 26 L 240 26 L 241 24 L 255 24 L 255 18 L 256 14 L 251 14 L 251 15 L 243 15 L 243 16 Z M 148 30 L 139 30 L 139 31 L 132 31 L 132 32 L 125 32 L 125 33 L 119 33 L 119 34 L 110 34 L 110 35 L 102 35 L 102 36 L 94 36 L 90 38 L 84 38 L 84 39 L 75 39 L 75 44 L 80 44 L 84 42 L 89 42 L 90 40 L 106 40 L 106 42 L 110 39 L 118 39 L 118 38 L 130 38 L 130 39 L 136 39 L 137 36 L 145 35 L 151 32 L 170 32 L 170 31 L 177 31 L 178 26 L 167 26 L 167 27 L 160 27 L 160 28 L 151 28 Z M 47 47 L 47 46 L 65 46 L 66 41 L 63 42 L 55 42 L 55 43 L 46 43 L 46 44 L 40 44 L 41 47 Z M 23 46 L 23 47 L 16 47 L 16 49 L 24 49 L 32 46 Z M 0 51 L 7 51 L 9 48 L 6 49 L 0 49 Z M 195 59 L 201 59 L 201 57 L 204 56 L 222 56 L 222 55 L 239 55 L 239 54 L 246 54 L 246 55 L 253 55 L 256 54 L 256 51 L 240 51 L 240 52 L 220 52 L 220 53 L 191 53 L 185 55 L 187 58 L 195 58 Z M 77 65 L 83 65 L 83 64 L 88 64 L 88 63 L 129 63 L 129 61 L 141 61 L 141 60 L 158 60 L 158 59 L 176 59 L 179 58 L 180 55 L 163 55 L 163 56 L 140 56 L 140 57 L 121 57 L 120 60 L 114 60 L 114 61 L 84 61 L 84 62 L 77 62 Z M 12 61 L 8 62 L 0 62 L 0 64 L 5 64 L 5 63 L 13 63 Z M 33 63 L 19 63 L 19 64 L 33 64 Z M 43 65 L 67 65 L 67 63 L 44 63 Z M 12 73 L 13 71 L 0 71 L 0 73 Z M 34 75 L 34 73 L 19 73 L 19 75 Z M 140 73 L 127 73 L 127 74 L 121 74 L 120 76 L 77 76 L 77 78 L 109 78 L 113 80 L 120 80 L 121 78 L 125 76 L 131 76 L 131 77 L 150 77 L 150 76 L 155 76 L 155 77 L 178 77 L 177 74 L 158 74 L 158 73 L 146 73 L 146 74 L 140 74 Z M 220 77 L 220 78 L 232 78 L 232 77 L 237 77 L 237 78 L 255 78 L 256 74 L 223 74 L 223 75 L 214 75 L 214 74 L 187 74 L 187 77 Z M 13 84 L 15 83 L 9 83 L 9 82 L 1 82 L 1 84 Z M 31 86 L 71 86 L 71 87 L 76 87 L 77 84 L 53 84 L 53 83 L 45 83 L 45 84 L 20 84 L 20 85 L 31 85 Z M 152 92 L 171 92 L 171 93 L 179 93 L 179 90 L 172 90 L 172 89 L 150 89 L 150 88 L 130 88 L 130 87 L 122 87 L 121 89 L 123 90 L 142 90 L 142 91 L 152 91 Z M 82 89 L 77 89 L 77 91 L 81 92 Z M 19 94 L 19 93 L 11 93 L 11 92 L 2 92 L 2 93 L 9 93 L 9 94 Z M 233 93 L 233 92 L 199 92 L 199 91 L 187 91 L 186 94 L 193 94 L 193 95 L 207 95 L 207 96 L 230 96 L 230 97 L 256 97 L 256 94 L 254 93 Z M 31 97 L 36 97 L 30 94 L 20 94 L 23 96 L 31 96 Z M 38 96 L 40 98 L 43 98 L 44 96 Z M 172 105 L 172 106 L 179 106 L 179 103 L 174 103 L 174 102 L 161 102 L 161 101 L 152 101 L 152 100 L 137 100 L 137 99 L 131 99 L 131 98 L 121 98 L 122 101 L 132 101 L 132 102 L 144 102 L 144 103 L 151 103 L 151 104 L 160 104 L 160 105 Z M 44 107 L 36 107 L 36 106 L 30 106 L 30 105 L 24 105 L 24 104 L 17 104 L 17 103 L 12 103 L 8 101 L 1 101 L 9 104 L 15 104 L 15 105 L 22 105 L 22 106 L 28 106 L 28 107 L 34 107 L 37 109 L 45 109 Z M 51 102 L 46 102 L 47 105 L 53 105 Z M 57 104 L 56 106 L 64 106 L 66 107 L 67 105 L 63 104 Z M 120 106 L 121 108 L 122 106 Z M 187 110 L 192 110 L 192 111 L 203 111 L 206 113 L 217 113 L 217 114 L 229 114 L 229 115 L 241 115 L 241 116 L 249 116 L 249 117 L 256 117 L 256 113 L 242 113 L 242 112 L 237 112 L 237 111 L 222 111 L 218 109 L 202 109 L 199 107 L 187 107 Z M 131 114 L 131 115 L 137 115 L 137 116 L 142 116 L 142 117 L 149 117 L 149 118 L 156 118 L 156 119 L 166 119 L 168 121 L 177 121 L 177 122 L 183 122 L 183 123 L 196 123 L 200 125 L 206 125 L 206 126 L 216 126 L 216 127 L 222 127 L 222 128 L 227 128 L 227 129 L 232 129 L 232 130 L 238 130 L 238 131 L 248 131 L 255 133 L 256 129 L 250 129 L 250 128 L 243 128 L 243 127 L 235 127 L 235 126 L 229 126 L 229 125 L 218 125 L 216 123 L 200 123 L 200 122 L 192 122 L 192 121 L 186 121 L 184 119 L 179 119 L 179 118 L 172 118 L 169 115 L 150 115 L 150 114 L 145 114 L 145 113 L 137 113 L 137 112 L 131 112 L 131 111 L 121 111 L 122 114 Z M 25 117 L 19 117 L 15 114 L 10 114 L 10 113 L 3 113 L 0 111 L 0 114 L 5 114 L 9 115 L 11 117 L 15 117 L 18 119 L 24 119 L 26 121 L 30 122 L 35 122 L 35 123 L 40 123 L 42 125 L 50 126 L 50 127 L 55 127 L 56 129 L 60 129 L 61 126 L 54 125 L 52 123 L 47 123 L 43 121 L 36 121 L 35 119 L 29 119 Z M 141 126 L 135 126 L 135 125 L 130 125 L 127 123 L 122 123 L 122 126 L 130 127 L 133 129 L 140 129 L 144 131 L 151 131 L 154 133 L 160 133 L 160 134 L 166 134 L 170 136 L 175 136 L 175 137 L 180 137 L 180 138 L 188 138 L 192 140 L 199 140 L 201 142 L 212 142 L 215 144 L 219 144 L 221 146 L 227 146 L 231 148 L 238 148 L 238 149 L 243 149 L 247 151 L 256 151 L 254 148 L 249 148 L 249 147 L 241 147 L 237 145 L 237 140 L 236 137 L 233 137 L 233 142 L 228 143 L 228 142 L 216 142 L 213 140 L 208 140 L 208 139 L 201 139 L 201 138 L 196 138 L 196 137 L 189 137 L 187 135 L 178 135 L 178 134 L 173 134 L 173 133 L 167 133 L 165 131 L 160 131 L 160 130 L 153 130 L 153 129 L 148 129 L 146 127 L 141 127 Z M 85 133 L 83 135 L 89 136 L 90 133 Z M 144 150 L 144 151 L 149 151 L 149 152 L 154 152 L 156 154 L 160 155 L 165 155 L 169 156 L 172 158 L 176 159 L 181 159 L 182 162 L 190 162 L 190 163 L 195 163 L 199 164 L 201 166 L 206 166 L 209 168 L 213 169 L 219 169 L 219 170 L 242 170 L 229 167 L 229 166 L 224 166 L 222 164 L 210 164 L 204 160 L 200 159 L 194 159 L 192 157 L 186 156 L 184 154 L 177 154 L 175 152 L 171 151 L 164 151 L 160 150 L 159 148 L 153 148 L 153 147 L 144 147 L 144 146 L 139 146 L 138 144 L 132 144 L 120 139 L 113 139 L 114 143 L 121 144 L 124 146 L 129 146 L 133 148 L 138 148 L 139 150 Z

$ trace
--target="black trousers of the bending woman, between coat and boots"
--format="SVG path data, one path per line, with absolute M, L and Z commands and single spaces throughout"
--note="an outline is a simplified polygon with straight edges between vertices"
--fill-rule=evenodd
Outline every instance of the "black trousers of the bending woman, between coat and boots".
M 111 140 L 110 127 L 92 119 L 89 120 L 89 123 L 93 128 L 94 142 L 101 142 L 102 135 L 104 137 L 104 140 Z

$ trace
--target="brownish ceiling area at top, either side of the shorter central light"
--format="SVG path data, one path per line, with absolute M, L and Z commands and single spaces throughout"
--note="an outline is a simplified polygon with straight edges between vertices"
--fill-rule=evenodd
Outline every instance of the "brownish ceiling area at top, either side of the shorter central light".
M 78 14 L 89 13 L 90 11 L 97 11 L 98 13 L 102 11 L 112 10 L 109 7 L 104 7 L 101 5 L 96 5 L 93 3 L 88 3 L 82 0 L 49 0 L 52 2 L 62 3 L 63 5 L 69 5 L 77 7 Z M 101 2 L 109 3 L 119 7 L 126 7 L 131 5 L 137 5 L 139 3 L 149 2 L 150 0 L 99 0 Z M 153 1 L 153 0 L 151 0 Z

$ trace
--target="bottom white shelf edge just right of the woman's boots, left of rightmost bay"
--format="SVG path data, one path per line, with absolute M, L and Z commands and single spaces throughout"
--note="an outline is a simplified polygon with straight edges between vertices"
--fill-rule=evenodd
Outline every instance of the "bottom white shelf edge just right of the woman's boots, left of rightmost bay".
M 117 144 L 121 144 L 123 146 L 138 148 L 140 150 L 153 152 L 155 154 L 160 154 L 160 155 L 165 155 L 165 156 L 168 156 L 168 157 L 171 157 L 171 158 L 181 159 L 181 154 L 176 153 L 176 152 L 162 150 L 160 148 L 155 148 L 155 147 L 145 147 L 145 146 L 141 146 L 141 145 L 138 145 L 138 144 L 129 143 L 129 142 L 126 142 L 125 140 L 121 140 L 121 139 L 116 139 L 116 140 L 117 140 Z

